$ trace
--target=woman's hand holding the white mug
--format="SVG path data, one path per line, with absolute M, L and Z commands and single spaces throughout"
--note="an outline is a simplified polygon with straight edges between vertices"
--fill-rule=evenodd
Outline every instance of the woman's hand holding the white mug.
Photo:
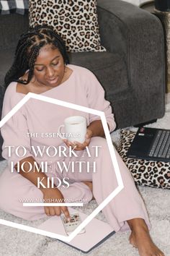
M 72 148 L 74 148 L 74 150 L 84 150 L 87 146 L 89 146 L 91 137 L 92 137 L 91 129 L 86 129 L 85 141 L 83 143 L 80 143 L 77 141 L 70 142 L 69 140 L 66 140 L 66 139 L 64 139 L 63 142 L 65 142 L 68 147 L 71 146 Z

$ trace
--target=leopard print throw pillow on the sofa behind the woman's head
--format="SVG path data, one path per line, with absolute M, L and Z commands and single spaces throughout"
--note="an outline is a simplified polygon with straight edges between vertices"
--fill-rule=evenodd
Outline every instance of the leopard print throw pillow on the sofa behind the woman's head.
M 100 45 L 96 0 L 30 0 L 30 27 L 54 27 L 67 51 L 106 51 Z

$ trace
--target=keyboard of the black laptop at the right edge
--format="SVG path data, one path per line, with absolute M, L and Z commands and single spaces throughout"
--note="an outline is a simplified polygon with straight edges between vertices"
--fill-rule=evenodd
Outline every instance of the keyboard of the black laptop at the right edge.
M 154 158 L 170 158 L 170 131 L 157 132 L 148 155 Z

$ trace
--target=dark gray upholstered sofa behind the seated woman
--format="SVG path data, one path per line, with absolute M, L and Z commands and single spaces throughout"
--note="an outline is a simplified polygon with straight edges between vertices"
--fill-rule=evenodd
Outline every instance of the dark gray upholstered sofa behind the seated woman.
M 71 64 L 96 74 L 111 102 L 117 128 L 164 116 L 164 33 L 153 14 L 120 0 L 98 0 L 102 45 L 107 52 L 71 54 Z M 12 64 L 28 17 L 0 15 L 0 85 Z M 2 90 L 2 89 L 1 89 Z M 1 92 L 1 104 L 3 92 Z

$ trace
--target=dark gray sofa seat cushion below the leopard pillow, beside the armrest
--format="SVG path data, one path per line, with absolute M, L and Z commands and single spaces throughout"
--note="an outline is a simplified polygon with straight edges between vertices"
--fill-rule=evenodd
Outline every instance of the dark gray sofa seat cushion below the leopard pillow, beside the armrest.
M 70 54 L 71 64 L 75 64 L 94 72 L 99 82 L 107 91 L 107 99 L 130 89 L 125 60 L 119 54 L 110 52 L 88 52 Z

